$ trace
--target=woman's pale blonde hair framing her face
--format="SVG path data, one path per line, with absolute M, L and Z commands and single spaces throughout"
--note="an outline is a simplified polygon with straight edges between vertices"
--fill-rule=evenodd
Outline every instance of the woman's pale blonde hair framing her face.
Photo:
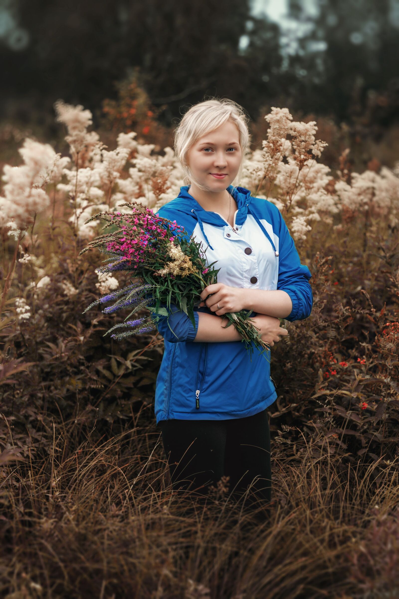
M 190 185 L 191 181 L 194 181 L 200 189 L 206 190 L 206 187 L 201 185 L 191 173 L 187 164 L 187 154 L 200 137 L 214 131 L 228 120 L 233 122 L 238 129 L 242 152 L 240 168 L 232 184 L 240 180 L 243 158 L 249 145 L 249 117 L 237 102 L 228 98 L 212 98 L 191 106 L 174 131 L 175 156 L 184 172 L 185 185 Z

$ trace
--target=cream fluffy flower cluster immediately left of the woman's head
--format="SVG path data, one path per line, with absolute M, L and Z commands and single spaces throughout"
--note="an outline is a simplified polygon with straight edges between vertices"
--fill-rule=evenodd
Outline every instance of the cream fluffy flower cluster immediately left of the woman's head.
M 121 133 L 117 138 L 117 148 L 106 150 L 95 132 L 87 132 L 92 124 L 92 113 L 83 106 L 71 106 L 57 101 L 54 104 L 57 121 L 68 129 L 66 141 L 69 143 L 72 168 L 65 168 L 63 174 L 67 183 L 57 184 L 57 190 L 68 194 L 73 208 L 69 222 L 73 223 L 80 238 L 93 238 L 99 220 L 86 223 L 93 214 L 105 210 L 130 212 L 121 204 L 132 199 L 148 207 L 158 208 L 173 199 L 179 192 L 182 173 L 176 168 L 175 155 L 166 147 L 165 156 L 151 156 L 154 144 L 138 144 L 136 132 Z M 130 162 L 128 177 L 121 177 L 130 154 L 135 158 Z M 115 184 L 117 189 L 115 189 Z M 171 189 L 172 188 L 172 189 Z

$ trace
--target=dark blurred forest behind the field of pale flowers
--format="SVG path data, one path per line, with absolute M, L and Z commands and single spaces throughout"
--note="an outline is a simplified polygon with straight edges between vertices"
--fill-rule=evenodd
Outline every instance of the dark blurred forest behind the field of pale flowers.
M 253 121 L 276 105 L 346 123 L 352 146 L 397 131 L 397 0 L 288 0 L 290 31 L 253 8 L 248 0 L 0 0 L 1 121 L 53 139 L 62 98 L 89 108 L 96 128 L 104 100 L 126 99 L 134 80 L 166 128 L 217 95 Z M 397 158 L 397 136 L 385 162 Z

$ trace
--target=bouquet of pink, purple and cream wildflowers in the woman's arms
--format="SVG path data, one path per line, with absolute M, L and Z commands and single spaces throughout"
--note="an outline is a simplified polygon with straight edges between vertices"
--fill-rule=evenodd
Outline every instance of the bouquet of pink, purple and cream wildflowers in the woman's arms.
M 220 269 L 213 268 L 216 261 L 208 265 L 201 243 L 196 243 L 192 237 L 188 239 L 184 228 L 177 225 L 175 220 L 172 222 L 156 216 L 140 202 L 121 205 L 132 208 L 132 212 L 102 212 L 86 220 L 89 223 L 100 217 L 106 221 L 103 229 L 116 225 L 117 230 L 99 235 L 79 255 L 97 247 L 100 252 L 111 255 L 111 258 L 103 261 L 109 264 L 99 267 L 98 272 L 127 271 L 135 280 L 131 279 L 131 284 L 122 289 L 103 295 L 84 312 L 95 305 L 113 300 L 114 304 L 106 307 L 104 314 L 130 308 L 124 322 L 112 326 L 105 333 L 128 326 L 128 331 L 111 335 L 115 339 L 122 339 L 155 329 L 154 323 L 162 316 L 169 316 L 170 304 L 173 303 L 187 314 L 195 329 L 194 306 L 200 303 L 199 295 L 203 289 L 217 283 Z M 137 315 L 143 308 L 150 309 L 152 316 L 132 319 L 132 315 Z M 264 350 L 270 349 L 270 345 L 262 340 L 258 329 L 249 320 L 251 313 L 252 310 L 241 310 L 223 314 L 221 318 L 227 318 L 226 327 L 232 324 L 236 327 L 248 352 L 253 352 L 255 346 L 264 354 Z M 172 328 L 170 330 L 173 332 Z M 267 352 L 266 359 L 268 360 Z

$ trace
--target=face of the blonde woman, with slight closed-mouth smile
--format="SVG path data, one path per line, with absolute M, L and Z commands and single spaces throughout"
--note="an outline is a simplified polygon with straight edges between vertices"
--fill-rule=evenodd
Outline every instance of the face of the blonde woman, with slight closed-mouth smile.
M 234 181 L 241 158 L 238 129 L 228 120 L 191 146 L 187 164 L 199 183 L 217 192 L 226 189 Z M 224 176 L 215 177 L 215 174 Z

